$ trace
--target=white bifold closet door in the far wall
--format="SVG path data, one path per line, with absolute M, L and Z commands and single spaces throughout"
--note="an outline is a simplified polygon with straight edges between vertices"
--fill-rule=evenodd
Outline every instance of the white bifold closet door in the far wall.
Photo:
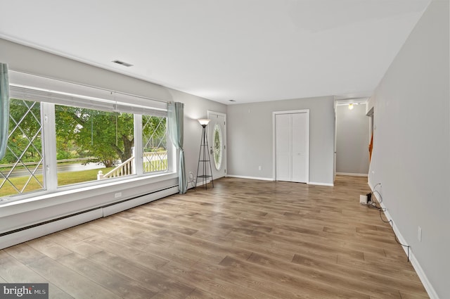
M 276 180 L 309 181 L 309 114 L 275 115 Z

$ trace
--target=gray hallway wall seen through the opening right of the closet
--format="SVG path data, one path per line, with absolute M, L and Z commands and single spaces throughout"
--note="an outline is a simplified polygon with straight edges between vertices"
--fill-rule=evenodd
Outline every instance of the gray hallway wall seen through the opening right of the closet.
M 336 107 L 336 172 L 368 174 L 369 117 L 366 104 Z

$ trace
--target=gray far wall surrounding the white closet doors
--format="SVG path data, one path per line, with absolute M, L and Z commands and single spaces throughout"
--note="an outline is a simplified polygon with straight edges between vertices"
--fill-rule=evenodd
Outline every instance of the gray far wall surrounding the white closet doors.
M 272 179 L 272 113 L 300 109 L 309 109 L 309 181 L 333 184 L 332 96 L 228 106 L 228 174 Z

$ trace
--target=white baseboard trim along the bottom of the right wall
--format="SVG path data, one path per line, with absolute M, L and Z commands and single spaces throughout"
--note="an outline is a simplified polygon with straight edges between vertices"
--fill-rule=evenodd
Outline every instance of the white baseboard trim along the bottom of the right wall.
M 368 183 L 368 186 L 373 191 L 373 187 L 371 186 L 370 183 Z M 392 219 L 389 211 L 387 210 L 387 208 L 385 206 L 385 203 L 383 203 L 383 201 L 381 200 L 380 194 L 378 194 L 377 192 L 375 192 L 373 194 L 377 198 L 378 202 L 381 201 L 380 205 L 381 205 L 381 208 L 385 209 L 385 217 L 387 217 L 387 220 L 392 220 L 392 229 L 394 230 L 394 234 L 399 239 L 399 242 L 404 245 L 408 245 L 405 238 L 401 235 L 401 232 L 395 225 L 394 219 Z M 405 246 L 401 246 L 401 248 L 403 248 L 406 256 L 408 256 L 408 248 L 406 248 Z M 437 295 L 435 288 L 433 288 L 432 284 L 428 280 L 427 275 L 425 274 L 425 272 L 423 272 L 422 267 L 420 266 L 418 260 L 416 259 L 416 256 L 414 256 L 412 248 L 409 248 L 409 261 L 411 262 L 411 265 L 413 265 L 413 268 L 416 270 L 416 273 L 419 276 L 420 281 L 422 281 L 422 284 L 423 284 L 425 290 L 427 291 L 428 295 L 430 296 L 430 298 L 431 299 L 439 299 L 439 296 Z

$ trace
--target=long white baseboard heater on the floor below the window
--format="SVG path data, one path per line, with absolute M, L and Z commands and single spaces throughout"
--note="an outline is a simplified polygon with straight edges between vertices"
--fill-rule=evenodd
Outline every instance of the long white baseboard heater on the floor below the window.
M 117 212 L 122 212 L 124 210 L 137 207 L 138 205 L 150 203 L 150 201 L 156 201 L 157 199 L 178 192 L 179 192 L 178 186 L 173 186 L 168 189 L 164 189 L 161 191 L 157 191 L 155 193 L 150 193 L 144 196 L 140 196 L 138 198 L 131 199 L 130 201 L 123 201 L 121 203 L 105 206 L 104 208 L 97 208 L 96 210 L 91 210 L 89 212 L 82 212 L 77 215 L 72 215 L 67 218 L 47 222 L 44 224 L 37 224 L 34 227 L 16 231 L 11 234 L 6 234 L 4 236 L 0 236 L 0 250 L 17 245 L 19 243 L 30 241 L 34 238 L 39 238 L 41 236 L 52 234 L 56 231 L 62 231 L 63 229 L 68 229 L 69 227 L 75 227 L 85 222 L 96 220 L 102 217 L 107 217 Z

